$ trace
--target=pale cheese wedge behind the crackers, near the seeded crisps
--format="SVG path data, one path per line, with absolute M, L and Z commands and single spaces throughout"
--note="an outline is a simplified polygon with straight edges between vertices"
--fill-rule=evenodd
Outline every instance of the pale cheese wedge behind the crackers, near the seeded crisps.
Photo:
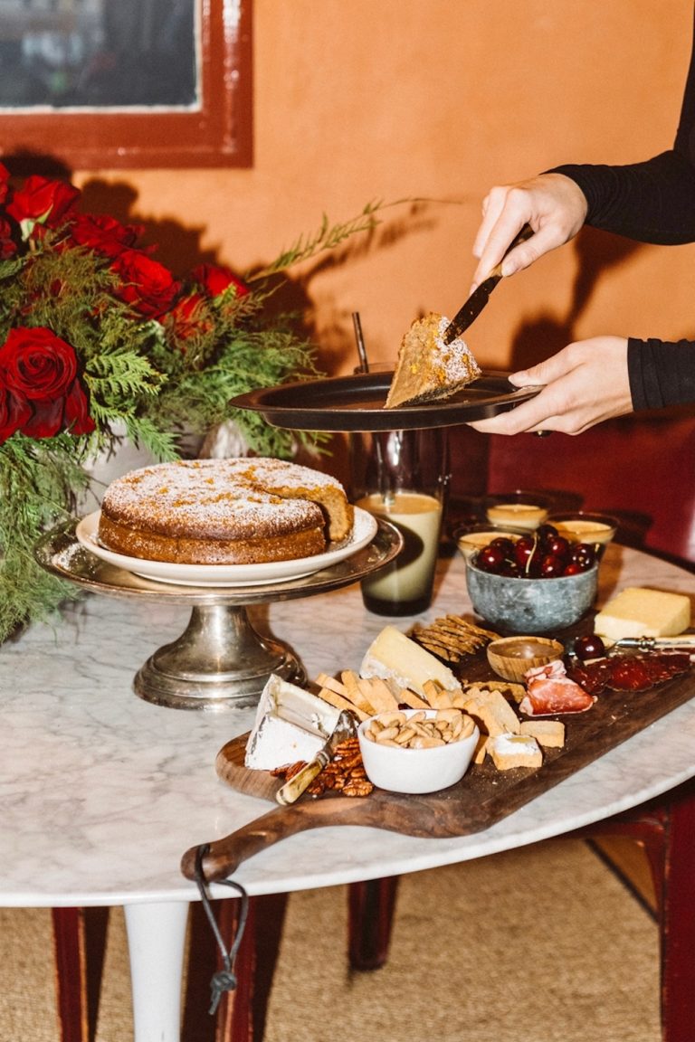
M 401 688 L 409 688 L 425 699 L 427 680 L 435 680 L 445 691 L 461 687 L 448 666 L 395 626 L 386 626 L 367 648 L 359 675 L 394 679 Z

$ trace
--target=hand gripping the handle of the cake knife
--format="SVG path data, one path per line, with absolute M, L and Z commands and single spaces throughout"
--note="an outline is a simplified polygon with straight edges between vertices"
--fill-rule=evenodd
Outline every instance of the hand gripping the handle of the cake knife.
M 504 257 L 505 277 L 576 235 L 587 209 L 584 192 L 564 174 L 540 174 L 517 184 L 491 189 L 482 203 L 482 221 L 473 244 L 473 254 L 479 262 L 471 292 L 504 257 L 524 224 L 530 225 L 533 234 Z

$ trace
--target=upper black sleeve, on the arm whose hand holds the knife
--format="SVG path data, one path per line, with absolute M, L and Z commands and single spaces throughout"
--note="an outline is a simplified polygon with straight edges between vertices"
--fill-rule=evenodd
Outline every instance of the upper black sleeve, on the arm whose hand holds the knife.
M 628 166 L 566 165 L 553 173 L 587 197 L 587 224 L 644 243 L 695 242 L 695 49 L 673 148 Z

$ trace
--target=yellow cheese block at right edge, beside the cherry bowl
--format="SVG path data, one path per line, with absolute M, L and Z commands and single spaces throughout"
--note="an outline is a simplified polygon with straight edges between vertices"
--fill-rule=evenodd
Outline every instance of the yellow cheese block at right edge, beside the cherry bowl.
M 607 602 L 594 620 L 599 637 L 676 637 L 690 626 L 690 597 L 628 587 Z

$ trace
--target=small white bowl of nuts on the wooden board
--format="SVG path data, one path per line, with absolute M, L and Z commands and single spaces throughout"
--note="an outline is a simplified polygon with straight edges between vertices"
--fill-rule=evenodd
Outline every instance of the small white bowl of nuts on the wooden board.
M 460 782 L 478 741 L 478 728 L 461 710 L 380 713 L 357 728 L 367 777 L 391 792 L 425 793 Z

